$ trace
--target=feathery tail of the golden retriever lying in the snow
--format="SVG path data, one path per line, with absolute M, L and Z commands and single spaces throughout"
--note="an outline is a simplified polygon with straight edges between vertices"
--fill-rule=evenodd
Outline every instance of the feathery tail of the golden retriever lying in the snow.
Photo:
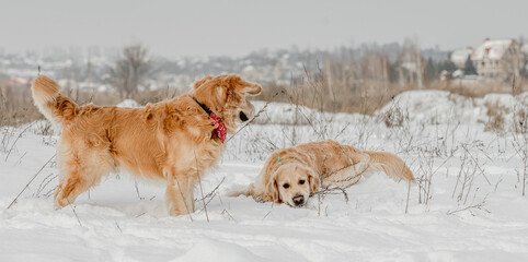
M 414 180 L 413 172 L 405 163 L 397 155 L 388 152 L 365 151 L 370 156 L 370 168 L 376 171 L 382 171 L 394 180 Z

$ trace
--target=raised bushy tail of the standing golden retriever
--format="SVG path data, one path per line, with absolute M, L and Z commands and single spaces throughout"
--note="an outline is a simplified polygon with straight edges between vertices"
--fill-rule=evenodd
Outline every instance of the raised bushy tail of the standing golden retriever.
M 33 81 L 31 90 L 35 106 L 49 121 L 66 124 L 76 117 L 77 104 L 59 93 L 60 85 L 57 82 L 39 75 Z

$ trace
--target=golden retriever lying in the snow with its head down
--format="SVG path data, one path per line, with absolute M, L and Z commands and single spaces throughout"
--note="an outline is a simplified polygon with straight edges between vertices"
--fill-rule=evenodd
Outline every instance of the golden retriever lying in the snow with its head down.
M 348 187 L 375 171 L 414 182 L 405 163 L 391 153 L 360 151 L 326 140 L 276 151 L 254 183 L 229 196 L 251 195 L 257 202 L 300 207 L 320 187 Z

